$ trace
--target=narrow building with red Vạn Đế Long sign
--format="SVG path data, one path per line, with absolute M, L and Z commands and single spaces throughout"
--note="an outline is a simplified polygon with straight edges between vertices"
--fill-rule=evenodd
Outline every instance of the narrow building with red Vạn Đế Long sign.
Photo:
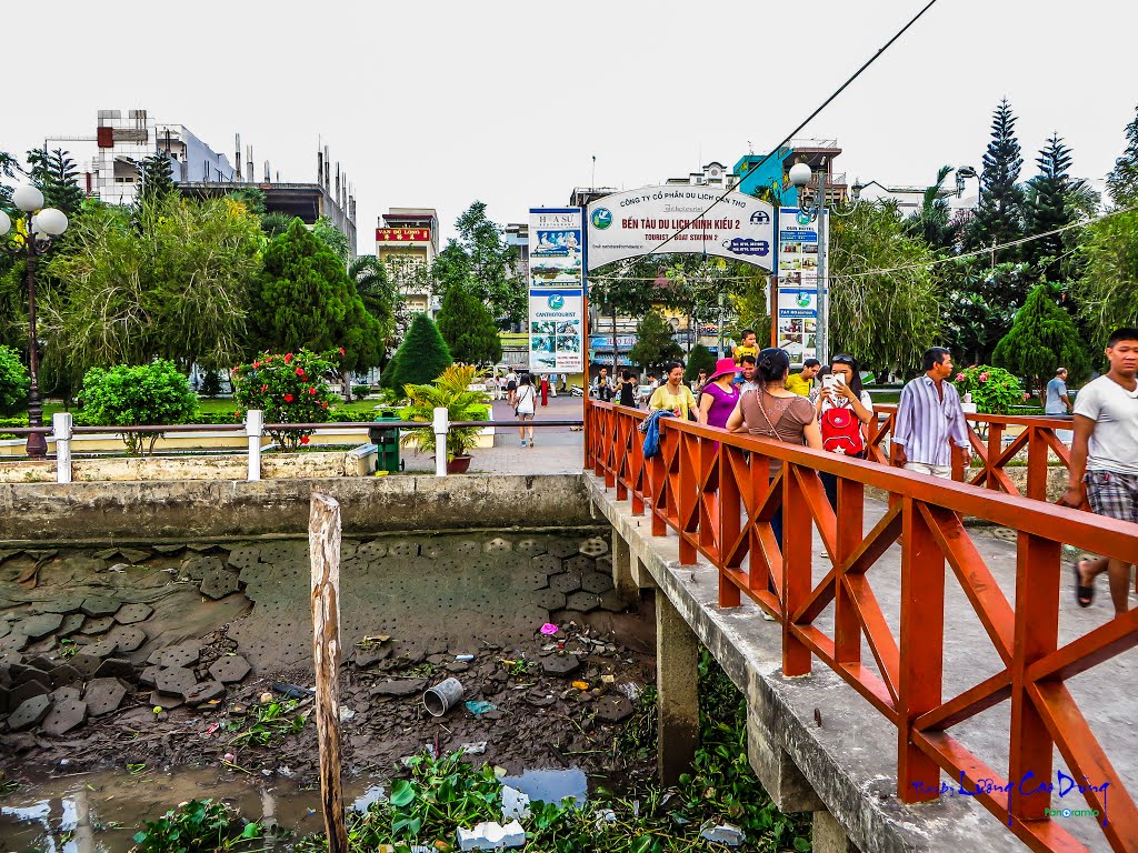
M 387 265 L 412 314 L 434 320 L 439 305 L 426 275 L 438 256 L 438 213 L 434 207 L 391 207 L 376 229 L 376 257 Z

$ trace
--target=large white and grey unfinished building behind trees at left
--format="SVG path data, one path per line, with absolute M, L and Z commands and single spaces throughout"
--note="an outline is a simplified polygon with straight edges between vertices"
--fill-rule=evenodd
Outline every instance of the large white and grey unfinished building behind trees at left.
M 165 154 L 179 190 L 197 198 L 224 196 L 237 185 L 255 185 L 265 193 L 265 212 L 297 216 L 306 225 L 324 216 L 356 250 L 356 200 L 347 174 L 336 164 L 335 175 L 328 147 L 316 151 L 316 181 L 282 183 L 273 176 L 269 160 L 263 180 L 254 169 L 253 146 L 245 149 L 234 138 L 234 157 L 215 151 L 185 125 L 158 122 L 146 109 L 100 109 L 94 133 L 47 136 L 48 150 L 67 151 L 79 169 L 80 185 L 89 196 L 113 205 L 131 205 L 138 198 L 141 164 L 155 154 Z M 236 165 L 234 165 L 236 164 Z

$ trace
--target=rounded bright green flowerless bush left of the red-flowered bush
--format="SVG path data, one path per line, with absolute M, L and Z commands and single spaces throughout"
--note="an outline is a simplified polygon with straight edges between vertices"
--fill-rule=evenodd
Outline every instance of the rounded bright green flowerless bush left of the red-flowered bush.
M 80 395 L 83 419 L 107 426 L 164 425 L 185 423 L 198 411 L 190 381 L 173 362 L 157 361 L 110 370 L 92 367 L 83 376 Z M 162 433 L 123 433 L 131 454 L 154 450 Z

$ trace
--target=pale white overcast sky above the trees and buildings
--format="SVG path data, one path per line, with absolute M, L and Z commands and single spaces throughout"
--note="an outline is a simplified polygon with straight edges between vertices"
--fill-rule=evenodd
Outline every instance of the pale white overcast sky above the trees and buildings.
M 389 206 L 437 208 L 447 237 L 473 199 L 502 224 L 564 205 L 594 155 L 596 185 L 633 188 L 766 154 L 923 5 L 56 0 L 67 38 L 36 39 L 32 7 L 7 18 L 0 150 L 146 108 L 230 159 L 240 133 L 258 175 L 269 159 L 312 181 L 320 135 L 355 183 L 365 254 Z M 799 135 L 836 138 L 851 181 L 924 184 L 981 165 L 1006 96 L 1024 177 L 1057 131 L 1100 179 L 1138 102 L 1136 24 L 1118 0 L 939 0 Z

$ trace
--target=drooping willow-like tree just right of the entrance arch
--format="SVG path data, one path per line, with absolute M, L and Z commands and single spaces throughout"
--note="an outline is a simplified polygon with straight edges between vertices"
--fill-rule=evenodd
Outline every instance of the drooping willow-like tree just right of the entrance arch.
M 940 336 L 935 255 L 908 237 L 896 201 L 858 202 L 830 220 L 831 351 L 866 367 L 917 366 Z M 876 271 L 890 272 L 876 272 Z

